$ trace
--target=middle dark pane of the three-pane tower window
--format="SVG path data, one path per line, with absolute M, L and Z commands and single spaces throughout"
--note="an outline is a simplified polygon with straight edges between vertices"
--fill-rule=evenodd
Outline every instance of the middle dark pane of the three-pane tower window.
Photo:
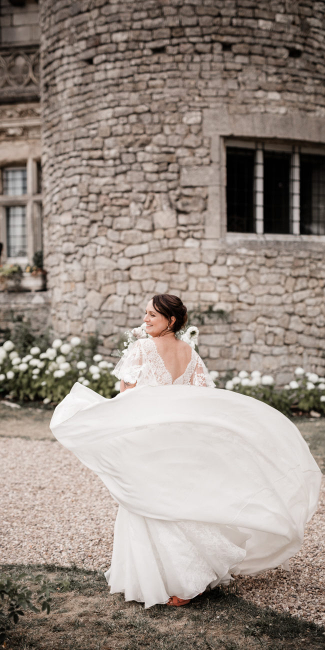
M 264 232 L 290 233 L 290 153 L 264 153 Z

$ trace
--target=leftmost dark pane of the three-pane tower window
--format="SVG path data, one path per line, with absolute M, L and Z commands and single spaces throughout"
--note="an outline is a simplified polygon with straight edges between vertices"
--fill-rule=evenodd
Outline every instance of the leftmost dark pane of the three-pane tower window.
M 253 149 L 227 148 L 227 230 L 254 232 Z

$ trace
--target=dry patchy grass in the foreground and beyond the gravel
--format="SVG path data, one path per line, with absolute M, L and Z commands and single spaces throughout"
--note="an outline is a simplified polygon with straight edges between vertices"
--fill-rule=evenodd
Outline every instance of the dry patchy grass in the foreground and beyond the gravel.
M 1 435 L 46 439 L 49 410 L 1 406 Z M 325 419 L 295 419 L 325 471 Z M 33 435 L 33 430 L 35 434 Z M 19 432 L 21 432 L 19 434 Z M 43 432 L 43 433 L 42 433 Z M 0 442 L 1 443 L 1 442 Z M 0 565 L 0 573 L 42 573 L 53 587 L 51 612 L 27 611 L 12 627 L 6 650 L 324 650 L 325 628 L 260 608 L 232 589 L 206 591 L 175 608 L 125 603 L 110 595 L 103 573 L 49 565 Z M 66 580 L 66 590 L 60 584 Z

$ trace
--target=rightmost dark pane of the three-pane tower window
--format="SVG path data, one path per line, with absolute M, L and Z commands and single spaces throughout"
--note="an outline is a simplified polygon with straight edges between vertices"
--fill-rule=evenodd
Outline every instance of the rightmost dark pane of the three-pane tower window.
M 300 156 L 300 233 L 325 235 L 324 156 Z

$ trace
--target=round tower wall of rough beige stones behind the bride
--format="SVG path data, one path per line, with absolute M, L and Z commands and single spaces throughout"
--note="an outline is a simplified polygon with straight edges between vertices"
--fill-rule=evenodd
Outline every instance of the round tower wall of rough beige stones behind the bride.
M 227 138 L 322 142 L 324 3 L 44 0 L 44 242 L 58 334 L 108 352 L 157 292 L 211 368 L 324 374 L 324 237 L 226 233 Z M 195 318 L 194 318 L 195 320 Z

